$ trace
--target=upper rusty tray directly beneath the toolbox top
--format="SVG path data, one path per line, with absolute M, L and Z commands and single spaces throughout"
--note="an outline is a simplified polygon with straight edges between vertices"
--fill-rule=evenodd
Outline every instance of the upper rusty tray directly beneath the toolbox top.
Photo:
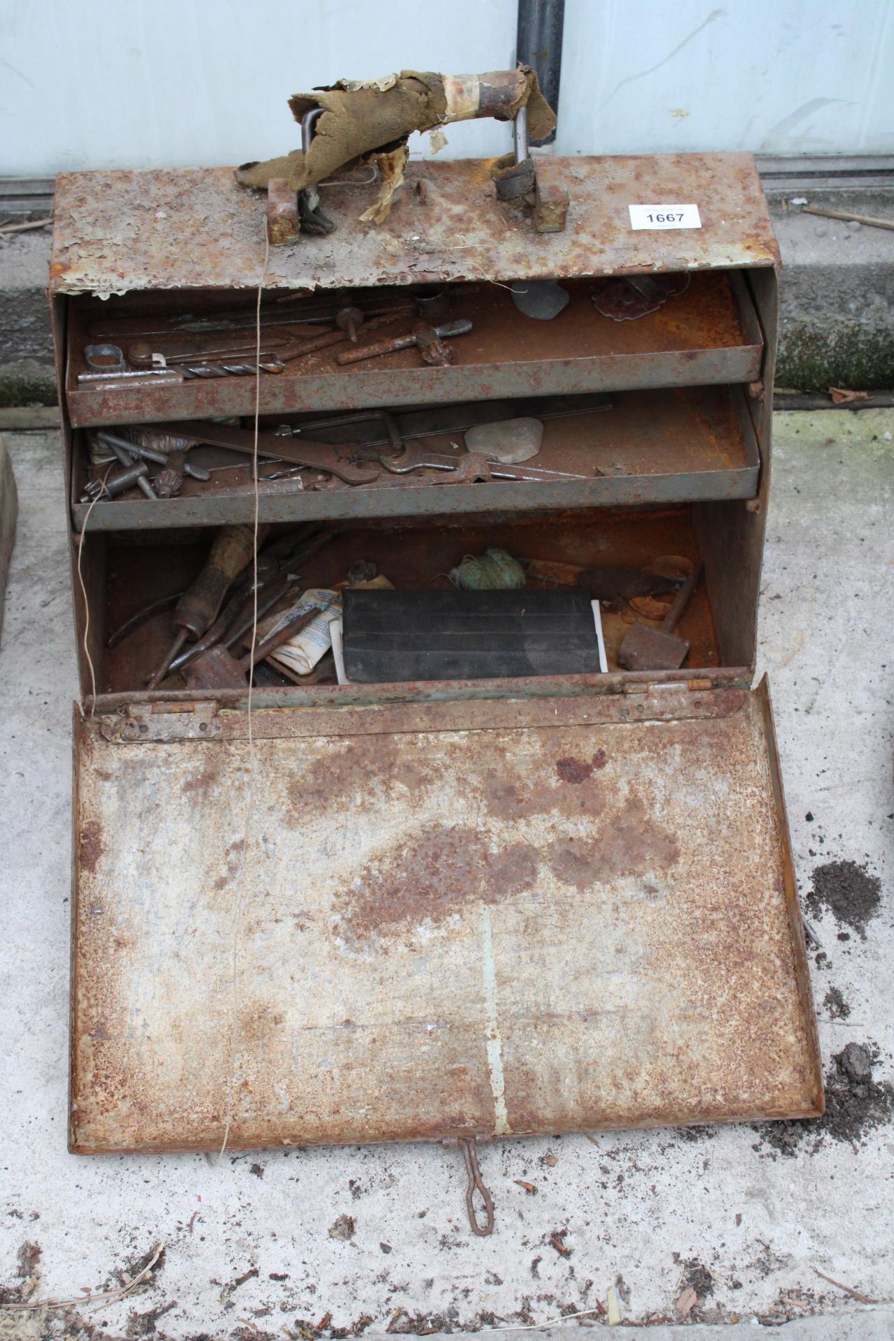
M 336 355 L 350 346 L 334 346 L 288 362 L 280 374 L 264 374 L 260 406 L 265 414 L 295 410 L 367 409 L 446 401 L 488 400 L 503 396 L 575 394 L 655 386 L 704 386 L 751 382 L 760 375 L 763 338 L 741 275 L 736 271 L 689 276 L 685 292 L 638 320 L 613 320 L 591 302 L 590 280 L 568 280 L 571 298 L 552 320 L 535 320 L 516 308 L 503 284 L 460 287 L 449 319 L 468 318 L 473 330 L 450 341 L 453 362 L 444 367 L 422 363 L 417 349 L 386 354 L 369 362 L 340 366 Z M 213 311 L 220 295 L 206 295 Z M 184 308 L 186 295 L 165 295 L 169 310 Z M 232 303 L 232 295 L 229 298 Z M 119 315 L 135 314 L 130 300 Z M 204 312 L 201 299 L 189 310 Z M 248 311 L 248 308 L 247 308 Z M 83 347 L 91 341 L 99 315 L 95 299 L 70 304 L 66 388 L 72 425 L 153 422 L 166 418 L 212 418 L 249 414 L 255 409 L 255 378 L 188 380 L 181 384 L 127 386 L 78 382 L 87 371 Z M 413 319 L 394 319 L 359 345 L 402 335 Z

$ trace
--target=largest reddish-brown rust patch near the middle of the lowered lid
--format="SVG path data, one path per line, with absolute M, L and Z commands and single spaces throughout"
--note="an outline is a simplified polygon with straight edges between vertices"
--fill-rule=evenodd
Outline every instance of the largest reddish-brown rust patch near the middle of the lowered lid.
M 533 848 L 513 842 L 493 850 L 477 829 L 434 826 L 386 861 L 371 861 L 338 900 L 355 937 L 436 925 L 470 902 L 496 904 L 529 889 L 537 874 Z

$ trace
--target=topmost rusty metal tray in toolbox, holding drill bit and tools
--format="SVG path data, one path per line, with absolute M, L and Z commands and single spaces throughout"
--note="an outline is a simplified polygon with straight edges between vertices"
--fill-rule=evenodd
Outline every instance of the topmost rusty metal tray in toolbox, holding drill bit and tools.
M 521 282 L 525 283 L 525 282 Z M 615 286 L 615 292 L 599 288 Z M 362 311 L 370 314 L 357 330 L 357 342 L 338 330 L 334 322 L 323 325 L 287 325 L 290 311 L 303 312 L 300 303 L 267 302 L 263 311 L 261 365 L 280 371 L 260 374 L 260 408 L 263 413 L 288 413 L 296 409 L 361 409 L 383 405 L 418 405 L 422 402 L 481 400 L 503 396 L 539 393 L 568 394 L 575 392 L 623 390 L 651 386 L 693 386 L 708 384 L 748 382 L 760 374 L 763 343 L 757 318 L 739 274 L 674 275 L 672 292 L 663 306 L 643 316 L 618 320 L 604 315 L 592 302 L 599 299 L 606 311 L 617 310 L 629 296 L 641 302 L 626 280 L 574 280 L 562 286 L 568 302 L 550 320 L 527 316 L 515 306 L 512 292 L 496 284 L 457 284 L 442 290 L 446 307 L 436 318 L 437 329 L 453 323 L 470 330 L 442 342 L 452 362 L 430 366 L 422 361 L 417 346 L 342 363 L 339 359 L 362 355 L 367 349 L 409 337 L 417 323 L 426 325 L 411 295 L 418 288 L 362 290 L 332 296 L 322 311 L 334 314 Z M 621 287 L 618 295 L 617 286 Z M 424 292 L 424 291 L 422 291 Z M 525 291 L 527 296 L 531 290 Z M 377 302 L 379 294 L 387 300 Z M 401 296 L 403 295 L 403 296 Z M 182 295 L 185 296 L 185 295 Z M 287 295 L 288 296 L 288 295 Z M 186 331 L 174 327 L 164 334 L 166 316 L 131 315 L 131 306 L 110 310 L 95 300 L 72 304 L 70 319 L 67 394 L 71 422 L 75 425 L 151 422 L 162 418 L 209 418 L 218 414 L 248 414 L 255 408 L 255 308 L 243 303 L 225 316 L 216 318 L 216 300 L 194 300 L 189 307 L 181 298 L 180 312 L 196 315 L 189 323 L 235 326 L 209 331 Z M 170 295 L 168 295 L 170 303 Z M 424 310 L 424 302 L 420 304 Z M 311 300 L 316 307 L 316 299 Z M 393 306 L 393 311 L 382 311 Z M 170 310 L 170 308 L 169 308 Z M 174 308 L 176 311 L 177 308 Z M 273 325 L 280 320 L 281 325 Z M 125 315 L 127 314 L 127 315 Z M 378 314 L 378 315 L 377 315 Z M 430 327 L 430 323 L 428 323 Z M 143 330 L 146 337 L 142 338 Z M 155 334 L 149 334 L 154 331 Z M 342 343 L 314 349 L 318 333 L 323 341 Z M 300 338 L 303 337 L 303 338 Z M 84 347 L 107 345 L 121 350 L 130 369 L 138 367 L 131 354 L 143 359 L 155 346 L 161 351 L 177 349 L 190 362 L 170 365 L 186 381 L 166 384 L 164 375 L 122 382 L 82 382 L 90 373 Z M 241 343 L 240 343 L 241 342 Z M 218 350 L 240 350 L 228 359 Z M 302 353 L 311 346 L 310 353 Z M 298 353 L 296 353 L 298 351 Z M 206 354 L 212 355 L 205 357 Z M 268 355 L 268 357 L 267 357 Z M 244 371 L 222 377 L 196 375 L 216 367 L 236 366 Z M 103 374 L 105 375 L 105 374 Z M 155 385 L 157 384 L 157 385 Z

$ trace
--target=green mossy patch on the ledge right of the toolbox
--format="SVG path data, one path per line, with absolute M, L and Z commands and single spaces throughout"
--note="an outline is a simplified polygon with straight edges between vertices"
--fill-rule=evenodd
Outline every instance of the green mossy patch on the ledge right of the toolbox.
M 889 390 L 894 386 L 894 330 L 860 322 L 785 323 L 779 333 L 776 385 L 803 392 Z

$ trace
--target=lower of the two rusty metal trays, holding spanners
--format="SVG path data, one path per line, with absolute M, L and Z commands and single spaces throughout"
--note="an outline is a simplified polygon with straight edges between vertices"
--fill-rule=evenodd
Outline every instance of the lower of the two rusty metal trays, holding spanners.
M 452 437 L 430 437 L 434 452 L 456 451 Z M 422 444 L 421 444 L 422 445 Z M 247 465 L 216 472 L 213 488 L 192 479 L 173 499 L 146 500 L 135 489 L 98 503 L 78 502 L 86 479 L 83 439 L 75 449 L 72 512 L 75 528 L 90 531 L 162 530 L 248 522 L 255 500 Z M 314 476 L 260 485 L 261 522 L 387 518 L 493 511 L 667 504 L 747 499 L 757 492 L 760 453 L 741 388 L 689 388 L 618 393 L 611 408 L 544 420 L 537 468 L 580 471 L 556 481 L 493 480 L 441 483 L 448 475 L 382 471 L 371 484 L 348 485 Z M 586 472 L 586 473 L 584 473 Z M 311 484 L 316 481 L 316 487 Z M 310 487 L 308 487 L 310 484 Z

